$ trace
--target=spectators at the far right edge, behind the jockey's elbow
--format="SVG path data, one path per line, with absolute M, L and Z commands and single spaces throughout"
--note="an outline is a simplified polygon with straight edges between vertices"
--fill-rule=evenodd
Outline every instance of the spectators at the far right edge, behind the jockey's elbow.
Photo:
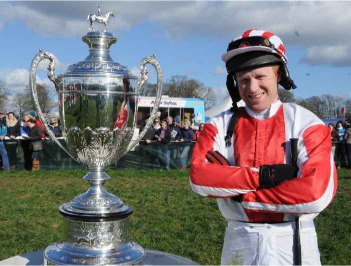
M 336 167 L 351 169 L 351 119 L 328 124 Z

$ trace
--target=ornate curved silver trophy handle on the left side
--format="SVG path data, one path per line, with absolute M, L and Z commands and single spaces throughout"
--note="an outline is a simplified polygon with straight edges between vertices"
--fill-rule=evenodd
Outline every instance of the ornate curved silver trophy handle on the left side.
M 47 121 L 44 119 L 44 115 L 43 115 L 42 109 L 41 109 L 40 104 L 39 104 L 38 94 L 37 94 L 37 82 L 36 82 L 37 67 L 38 67 L 40 61 L 42 61 L 44 59 L 48 59 L 50 61 L 49 67 L 48 67 L 48 70 L 49 70 L 48 78 L 55 84 L 56 91 L 59 90 L 59 88 L 60 88 L 60 86 L 62 84 L 61 78 L 57 78 L 54 75 L 54 69 L 55 69 L 55 65 L 56 65 L 56 58 L 55 58 L 55 56 L 52 53 L 49 53 L 47 51 L 44 51 L 44 50 L 40 49 L 39 53 L 33 58 L 33 61 L 32 61 L 32 64 L 31 64 L 31 68 L 30 68 L 30 75 L 29 75 L 29 85 L 31 86 L 33 100 L 34 100 L 35 106 L 37 108 L 40 120 L 41 120 L 42 124 L 44 125 L 46 131 L 48 132 L 50 138 L 52 140 L 54 140 L 61 147 L 61 149 L 64 150 L 72 159 L 77 161 L 68 152 L 68 150 L 59 142 L 59 140 L 55 137 L 54 132 L 51 131 Z

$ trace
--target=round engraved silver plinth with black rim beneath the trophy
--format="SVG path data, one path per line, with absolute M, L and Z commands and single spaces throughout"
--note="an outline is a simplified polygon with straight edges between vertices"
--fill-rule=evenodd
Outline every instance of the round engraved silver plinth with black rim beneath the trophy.
M 69 204 L 59 207 L 65 241 L 45 249 L 45 265 L 143 265 L 144 248 L 128 238 L 131 207 L 107 214 L 70 210 Z

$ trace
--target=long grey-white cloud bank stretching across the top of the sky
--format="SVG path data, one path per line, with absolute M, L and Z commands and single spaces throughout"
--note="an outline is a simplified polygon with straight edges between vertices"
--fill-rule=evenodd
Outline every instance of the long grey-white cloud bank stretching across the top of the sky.
M 142 23 L 156 23 L 169 40 L 192 37 L 225 37 L 230 41 L 244 30 L 258 28 L 277 34 L 285 46 L 306 50 L 303 62 L 324 64 L 328 49 L 351 47 L 351 2 L 246 2 L 246 1 L 128 1 L 128 2 L 2 2 L 0 30 L 8 21 L 23 21 L 32 31 L 45 35 L 81 36 L 88 31 L 88 14 L 96 13 L 97 4 L 103 13 L 113 10 L 115 17 L 108 30 L 129 30 Z M 102 25 L 96 27 L 101 28 Z M 323 60 L 311 56 L 323 46 Z M 342 49 L 339 50 L 342 52 Z M 289 51 L 287 51 L 289 56 Z M 351 61 L 332 56 L 330 65 L 351 65 Z M 348 63 L 347 63 L 348 62 Z

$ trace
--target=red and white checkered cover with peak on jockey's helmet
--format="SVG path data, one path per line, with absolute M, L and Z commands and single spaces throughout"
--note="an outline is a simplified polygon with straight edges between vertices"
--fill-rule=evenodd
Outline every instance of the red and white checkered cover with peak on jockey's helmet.
M 281 59 L 284 61 L 286 64 L 288 62 L 288 58 L 285 55 L 285 48 L 283 45 L 283 42 L 280 40 L 280 38 L 273 33 L 266 32 L 266 31 L 260 31 L 257 29 L 251 29 L 247 30 L 244 32 L 241 36 L 233 39 L 234 41 L 237 41 L 239 39 L 247 38 L 247 37 L 253 37 L 253 36 L 259 36 L 267 39 L 271 44 L 274 45 L 274 48 L 266 47 L 266 46 L 246 46 L 246 47 L 240 47 L 234 50 L 230 50 L 224 55 L 222 55 L 222 60 L 227 63 L 227 61 L 231 58 L 233 58 L 236 55 L 251 52 L 251 51 L 267 51 L 273 54 L 277 54 L 281 57 Z

